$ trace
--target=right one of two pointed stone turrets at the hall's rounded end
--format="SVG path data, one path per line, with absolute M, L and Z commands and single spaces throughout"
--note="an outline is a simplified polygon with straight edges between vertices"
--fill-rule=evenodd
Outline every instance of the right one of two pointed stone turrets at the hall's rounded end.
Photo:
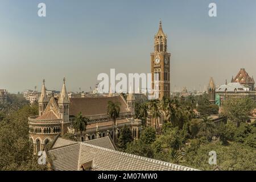
M 67 126 L 69 123 L 69 98 L 68 98 L 68 93 L 65 85 L 65 78 L 63 78 L 63 86 L 62 86 L 58 104 L 59 104 L 59 113 L 60 113 L 59 117 L 62 119 L 61 135 L 63 135 L 66 133 Z

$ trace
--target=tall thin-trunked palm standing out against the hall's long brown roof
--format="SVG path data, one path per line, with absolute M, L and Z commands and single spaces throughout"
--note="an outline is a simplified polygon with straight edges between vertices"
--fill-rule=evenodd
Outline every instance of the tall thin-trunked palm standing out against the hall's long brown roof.
M 113 120 L 113 140 L 114 142 L 117 142 L 117 137 L 115 136 L 115 130 L 117 129 L 117 123 L 116 120 L 119 117 L 119 112 L 120 112 L 120 103 L 119 102 L 108 102 L 108 114 L 109 117 Z

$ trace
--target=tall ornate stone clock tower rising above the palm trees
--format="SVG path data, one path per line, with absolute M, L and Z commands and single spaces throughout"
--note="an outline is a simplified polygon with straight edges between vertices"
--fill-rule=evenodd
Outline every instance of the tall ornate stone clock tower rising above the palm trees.
M 162 22 L 159 22 L 159 30 L 154 38 L 154 52 L 151 56 L 151 74 L 153 97 L 162 100 L 163 97 L 170 97 L 170 58 L 171 53 L 167 52 L 167 35 L 162 29 Z M 158 74 L 156 74 L 158 73 Z

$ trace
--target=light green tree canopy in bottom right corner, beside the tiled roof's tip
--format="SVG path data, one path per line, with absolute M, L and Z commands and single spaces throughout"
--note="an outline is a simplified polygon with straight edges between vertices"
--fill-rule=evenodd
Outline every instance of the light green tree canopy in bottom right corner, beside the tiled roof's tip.
M 209 151 L 216 151 L 217 165 L 222 170 L 255 170 L 256 153 L 253 148 L 232 143 L 222 146 L 220 143 L 193 143 L 185 150 L 184 162 L 180 164 L 202 170 L 212 170 L 208 163 Z

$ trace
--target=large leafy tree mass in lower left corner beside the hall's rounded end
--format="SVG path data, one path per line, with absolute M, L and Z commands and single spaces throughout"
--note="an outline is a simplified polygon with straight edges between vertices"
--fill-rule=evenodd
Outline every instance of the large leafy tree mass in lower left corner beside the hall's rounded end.
M 0 170 L 45 170 L 33 155 L 28 138 L 28 117 L 38 114 L 37 106 L 23 106 L 0 122 Z

